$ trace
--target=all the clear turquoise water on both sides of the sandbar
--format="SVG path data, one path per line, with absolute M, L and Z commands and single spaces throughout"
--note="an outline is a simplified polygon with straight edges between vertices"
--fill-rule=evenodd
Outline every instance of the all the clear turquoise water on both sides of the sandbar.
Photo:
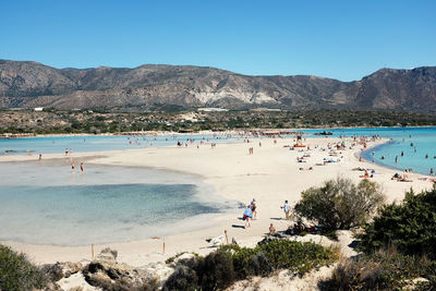
M 323 130 L 303 131 L 306 136 L 315 136 L 314 133 Z M 328 131 L 334 133 L 332 136 L 379 135 L 391 138 L 391 142 L 362 154 L 365 159 L 385 167 L 412 168 L 424 174 L 428 174 L 429 168 L 436 169 L 436 128 Z M 63 153 L 65 148 L 101 151 L 170 146 L 189 138 L 217 143 L 238 137 L 28 137 L 0 140 L 0 151 L 4 154 L 12 149 L 8 155 Z M 210 215 L 239 207 L 238 203 L 225 201 L 214 194 L 210 186 L 190 175 L 92 163 L 86 163 L 84 173 L 77 169 L 72 173 L 68 160 L 59 160 L 56 165 L 48 162 L 0 163 L 0 240 L 59 245 L 140 240 L 167 235 L 180 229 L 196 229 L 206 226 Z

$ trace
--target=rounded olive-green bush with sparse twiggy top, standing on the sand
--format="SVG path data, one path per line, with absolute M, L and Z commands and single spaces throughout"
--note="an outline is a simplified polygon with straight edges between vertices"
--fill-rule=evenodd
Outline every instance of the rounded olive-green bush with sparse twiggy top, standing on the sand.
M 364 225 L 383 204 L 384 195 L 375 182 L 338 178 L 302 192 L 294 206 L 296 217 L 319 223 L 325 230 L 350 229 Z

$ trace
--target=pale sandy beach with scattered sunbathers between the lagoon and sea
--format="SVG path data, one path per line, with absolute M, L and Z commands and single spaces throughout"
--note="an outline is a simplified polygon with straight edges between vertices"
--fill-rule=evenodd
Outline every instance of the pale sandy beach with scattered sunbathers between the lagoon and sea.
M 159 147 L 118 151 L 100 153 L 74 153 L 77 161 L 86 160 L 87 163 L 149 167 L 170 171 L 180 171 L 201 177 L 210 184 L 218 195 L 228 199 L 234 199 L 243 204 L 250 204 L 255 198 L 257 202 L 257 219 L 252 221 L 252 227 L 241 228 L 244 222 L 239 218 L 239 213 L 228 213 L 216 216 L 206 221 L 205 226 L 195 231 L 184 231 L 165 238 L 166 252 L 164 254 L 164 239 L 150 238 L 142 241 L 109 243 L 95 245 L 95 253 L 109 246 L 118 251 L 119 262 L 132 266 L 142 266 L 147 263 L 165 260 L 180 252 L 196 252 L 205 254 L 214 248 L 206 242 L 208 238 L 216 238 L 227 230 L 229 241 L 234 238 L 242 245 L 254 245 L 259 238 L 268 231 L 269 223 L 274 223 L 277 230 L 284 230 L 293 221 L 284 220 L 284 214 L 280 206 L 288 199 L 293 206 L 300 199 L 301 192 L 311 186 L 319 186 L 328 179 L 337 177 L 351 178 L 359 182 L 362 171 L 355 168 L 370 168 L 375 170 L 372 181 L 378 182 L 387 196 L 387 201 L 400 201 L 404 192 L 413 187 L 414 191 L 428 189 L 432 183 L 419 180 L 422 174 L 409 173 L 413 182 L 397 182 L 391 180 L 396 170 L 382 168 L 377 165 L 359 161 L 356 153 L 363 146 L 347 141 L 347 149 L 336 150 L 336 156 L 330 156 L 328 144 L 336 144 L 340 138 L 319 137 L 307 138 L 304 144 L 307 147 L 290 150 L 288 146 L 294 144 L 291 138 L 251 138 L 250 143 L 243 140 L 218 144 L 190 145 L 189 147 Z M 370 142 L 367 146 L 374 146 L 386 141 Z M 261 144 L 262 143 L 262 146 Z M 249 148 L 253 147 L 253 155 L 249 155 Z M 322 150 L 325 149 L 325 150 Z M 305 162 L 298 162 L 298 157 L 305 157 Z M 44 160 L 63 159 L 63 155 L 46 154 Z M 334 159 L 325 166 L 323 160 Z M 1 156 L 0 161 L 28 161 L 36 160 L 37 156 Z M 310 170 L 310 168 L 313 168 Z M 85 168 L 86 169 L 86 168 Z M 16 251 L 25 252 L 37 264 L 56 262 L 89 260 L 90 245 L 83 246 L 53 246 L 34 245 L 17 242 L 1 242 L 12 246 Z

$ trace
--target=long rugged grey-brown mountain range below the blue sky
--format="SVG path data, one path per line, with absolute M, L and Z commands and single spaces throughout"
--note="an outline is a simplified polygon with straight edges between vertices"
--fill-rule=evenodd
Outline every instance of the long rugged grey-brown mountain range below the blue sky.
M 247 76 L 192 65 L 55 69 L 0 60 L 0 108 L 380 109 L 436 112 L 436 66 L 382 69 L 361 81 Z

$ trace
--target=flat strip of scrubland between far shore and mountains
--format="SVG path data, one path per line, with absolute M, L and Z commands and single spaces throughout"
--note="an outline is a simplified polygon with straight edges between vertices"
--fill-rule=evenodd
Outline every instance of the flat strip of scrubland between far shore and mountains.
M 436 114 L 403 111 L 144 111 L 0 110 L 1 133 L 117 133 L 134 131 L 201 131 L 344 126 L 436 125 Z

